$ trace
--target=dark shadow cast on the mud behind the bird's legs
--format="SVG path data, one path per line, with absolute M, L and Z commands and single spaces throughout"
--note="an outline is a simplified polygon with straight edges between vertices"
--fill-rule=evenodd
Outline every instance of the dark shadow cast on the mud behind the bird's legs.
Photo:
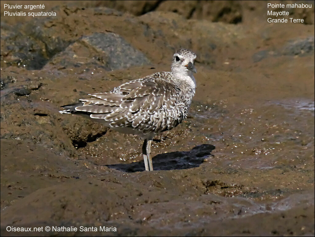
M 154 170 L 190 169 L 198 167 L 203 160 L 212 155 L 214 145 L 203 144 L 192 148 L 190 151 L 175 151 L 158 154 L 152 158 Z M 139 161 L 131 164 L 112 164 L 106 165 L 108 168 L 132 173 L 144 171 L 144 162 Z

